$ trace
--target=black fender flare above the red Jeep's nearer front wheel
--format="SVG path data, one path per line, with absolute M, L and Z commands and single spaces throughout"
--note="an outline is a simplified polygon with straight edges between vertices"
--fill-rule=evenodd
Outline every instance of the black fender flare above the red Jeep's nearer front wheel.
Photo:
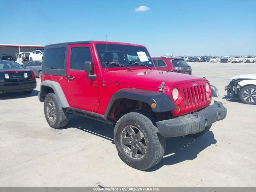
M 152 108 L 153 112 L 167 112 L 177 109 L 172 98 L 165 93 L 135 88 L 124 88 L 116 92 L 110 99 L 104 114 L 104 119 L 108 118 L 113 104 L 120 98 L 142 101 L 149 104 L 149 106 L 151 106 L 152 103 L 155 103 L 156 107 Z

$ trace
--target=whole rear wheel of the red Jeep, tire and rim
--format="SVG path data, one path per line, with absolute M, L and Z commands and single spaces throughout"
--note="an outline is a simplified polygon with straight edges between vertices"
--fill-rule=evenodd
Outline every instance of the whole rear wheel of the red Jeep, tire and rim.
M 44 100 L 44 116 L 52 128 L 61 128 L 68 124 L 69 113 L 62 108 L 54 93 L 48 93 Z

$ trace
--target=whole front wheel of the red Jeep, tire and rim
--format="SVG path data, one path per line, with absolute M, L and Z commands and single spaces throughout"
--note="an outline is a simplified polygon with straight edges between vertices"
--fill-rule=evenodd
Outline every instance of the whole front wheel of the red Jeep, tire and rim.
M 130 112 L 122 116 L 114 128 L 119 157 L 138 170 L 155 166 L 165 152 L 165 139 L 156 132 L 152 121 L 147 115 Z

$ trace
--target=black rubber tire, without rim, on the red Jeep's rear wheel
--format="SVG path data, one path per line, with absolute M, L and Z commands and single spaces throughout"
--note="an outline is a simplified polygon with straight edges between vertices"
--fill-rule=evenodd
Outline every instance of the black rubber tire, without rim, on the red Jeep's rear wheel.
M 48 101 L 51 100 L 56 107 L 56 120 L 52 122 L 47 115 L 46 107 L 48 104 Z M 69 113 L 66 108 L 62 108 L 60 105 L 60 102 L 58 101 L 56 95 L 54 93 L 48 93 L 44 100 L 44 116 L 46 118 L 46 121 L 48 124 L 55 129 L 64 127 L 68 124 L 69 120 Z

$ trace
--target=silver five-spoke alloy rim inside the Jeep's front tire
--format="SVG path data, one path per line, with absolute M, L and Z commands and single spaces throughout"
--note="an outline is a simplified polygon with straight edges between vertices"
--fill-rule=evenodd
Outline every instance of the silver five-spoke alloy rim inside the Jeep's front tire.
M 147 151 L 144 134 L 133 125 L 124 128 L 121 134 L 121 142 L 126 154 L 131 158 L 140 159 Z

